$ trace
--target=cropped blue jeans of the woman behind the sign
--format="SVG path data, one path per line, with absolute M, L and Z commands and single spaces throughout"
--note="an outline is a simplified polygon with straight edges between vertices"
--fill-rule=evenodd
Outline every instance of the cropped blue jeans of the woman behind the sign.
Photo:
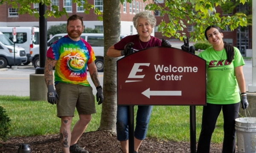
M 153 106 L 138 106 L 134 137 L 139 140 L 146 138 L 148 123 Z M 117 140 L 128 140 L 128 111 L 129 106 L 117 106 L 116 134 Z

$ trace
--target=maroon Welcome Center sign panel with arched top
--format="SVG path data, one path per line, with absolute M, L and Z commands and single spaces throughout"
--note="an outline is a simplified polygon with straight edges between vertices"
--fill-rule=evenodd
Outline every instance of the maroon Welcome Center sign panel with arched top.
M 206 105 L 206 61 L 153 47 L 117 61 L 118 105 Z

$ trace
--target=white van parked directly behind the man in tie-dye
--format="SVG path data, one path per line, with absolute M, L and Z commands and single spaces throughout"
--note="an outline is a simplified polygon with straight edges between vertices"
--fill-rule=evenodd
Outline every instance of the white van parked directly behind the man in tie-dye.
M 60 39 L 67 34 L 55 34 L 51 39 L 47 41 L 48 48 L 52 45 L 53 42 Z M 120 39 L 128 36 L 127 34 L 120 34 Z M 103 34 L 88 34 L 82 33 L 81 38 L 87 41 L 93 48 L 96 60 L 95 65 L 97 67 L 98 72 L 103 72 L 104 70 L 104 35 Z M 33 61 L 34 67 L 39 67 L 39 46 L 32 48 L 32 54 L 30 57 L 30 61 Z

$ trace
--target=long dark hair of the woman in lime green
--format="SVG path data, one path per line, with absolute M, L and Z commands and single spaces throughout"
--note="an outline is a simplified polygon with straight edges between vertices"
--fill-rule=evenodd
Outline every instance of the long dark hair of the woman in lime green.
M 209 27 L 207 27 L 207 28 L 205 29 L 205 31 L 204 31 L 204 36 L 206 37 L 207 40 L 208 40 L 208 37 L 207 37 L 206 32 L 207 32 L 210 28 L 216 28 L 216 29 L 218 29 L 218 31 L 219 31 L 220 33 L 223 33 L 223 32 L 222 32 L 222 29 L 221 29 L 220 27 L 215 26 L 215 25 L 209 26 Z M 234 59 L 234 55 L 235 55 L 234 46 L 232 46 L 232 45 L 230 45 L 229 43 L 224 42 L 224 41 L 223 41 L 223 43 L 224 43 L 224 48 L 225 48 L 226 53 L 227 53 L 227 61 L 228 61 L 228 62 L 232 62 L 233 59 Z

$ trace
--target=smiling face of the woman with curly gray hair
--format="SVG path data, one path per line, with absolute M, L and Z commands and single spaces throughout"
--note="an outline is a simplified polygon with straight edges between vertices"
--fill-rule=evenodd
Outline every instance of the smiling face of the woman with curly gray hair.
M 139 33 L 140 37 L 143 40 L 148 41 L 147 39 L 150 38 L 150 34 L 152 33 L 152 26 L 151 24 L 145 20 L 143 17 L 140 17 L 137 20 L 137 32 Z

